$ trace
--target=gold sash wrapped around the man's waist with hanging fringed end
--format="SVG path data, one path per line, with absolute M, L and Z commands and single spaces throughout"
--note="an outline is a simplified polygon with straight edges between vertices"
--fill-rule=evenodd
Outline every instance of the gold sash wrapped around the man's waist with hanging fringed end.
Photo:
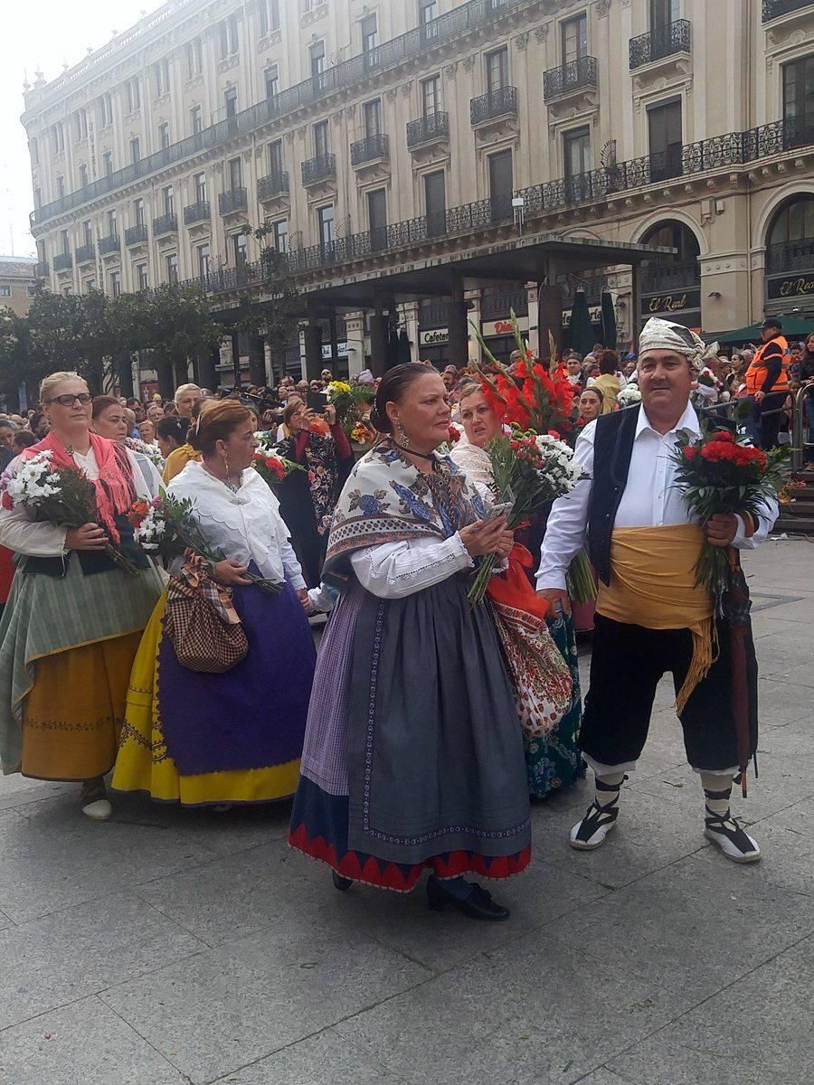
M 696 587 L 702 545 L 699 524 L 614 528 L 611 583 L 599 585 L 596 605 L 597 613 L 626 625 L 689 629 L 692 661 L 675 699 L 678 715 L 717 655 L 712 598 Z

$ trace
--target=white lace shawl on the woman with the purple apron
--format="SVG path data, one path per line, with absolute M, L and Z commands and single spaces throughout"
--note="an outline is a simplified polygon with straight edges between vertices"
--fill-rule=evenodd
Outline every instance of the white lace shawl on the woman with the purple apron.
M 278 584 L 288 579 L 295 590 L 305 587 L 280 502 L 254 468 L 247 468 L 240 487 L 231 490 L 203 464 L 191 462 L 173 478 L 167 493 L 194 501 L 206 541 L 227 558 L 242 565 L 254 561 L 263 576 Z

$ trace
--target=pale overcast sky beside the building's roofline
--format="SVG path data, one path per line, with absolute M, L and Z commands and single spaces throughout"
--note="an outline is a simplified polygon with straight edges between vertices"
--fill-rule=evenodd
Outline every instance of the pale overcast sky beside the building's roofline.
M 0 254 L 34 256 L 34 206 L 23 112 L 23 82 L 39 68 L 49 81 L 99 49 L 157 0 L 4 0 L 0 25 Z

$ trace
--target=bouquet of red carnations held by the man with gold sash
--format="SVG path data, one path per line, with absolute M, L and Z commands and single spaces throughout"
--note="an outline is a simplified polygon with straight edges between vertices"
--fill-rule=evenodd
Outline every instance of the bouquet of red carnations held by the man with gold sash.
M 717 513 L 743 513 L 755 524 L 766 498 L 777 498 L 784 480 L 786 449 L 764 452 L 739 444 L 728 430 L 707 431 L 700 439 L 679 437 L 673 455 L 677 463 L 675 485 L 684 500 L 707 523 Z M 716 610 L 728 587 L 727 547 L 704 542 L 696 565 L 696 585 L 704 585 Z

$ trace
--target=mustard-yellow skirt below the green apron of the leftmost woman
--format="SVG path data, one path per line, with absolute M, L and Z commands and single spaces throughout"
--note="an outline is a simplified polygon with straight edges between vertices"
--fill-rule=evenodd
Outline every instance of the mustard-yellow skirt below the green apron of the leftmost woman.
M 35 662 L 23 702 L 23 776 L 92 780 L 111 770 L 140 639 L 130 633 Z

